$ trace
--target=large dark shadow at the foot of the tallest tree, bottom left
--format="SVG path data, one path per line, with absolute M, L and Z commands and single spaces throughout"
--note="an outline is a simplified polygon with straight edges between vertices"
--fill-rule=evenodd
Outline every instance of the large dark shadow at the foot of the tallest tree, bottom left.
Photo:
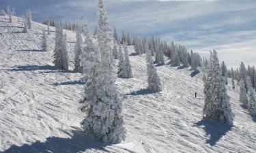
M 85 137 L 82 131 L 72 131 L 71 138 L 48 137 L 46 141 L 35 141 L 32 144 L 23 146 L 11 146 L 2 153 L 35 153 L 35 152 L 55 152 L 55 153 L 76 153 L 85 150 L 108 150 L 104 149 L 104 143 L 91 137 Z

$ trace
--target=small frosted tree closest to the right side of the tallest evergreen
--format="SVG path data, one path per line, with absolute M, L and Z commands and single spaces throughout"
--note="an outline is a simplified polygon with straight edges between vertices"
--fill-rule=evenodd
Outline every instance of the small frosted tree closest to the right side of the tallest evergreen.
M 130 65 L 130 59 L 128 55 L 128 46 L 124 45 L 124 62 L 120 63 L 117 76 L 119 78 L 132 78 L 132 67 Z

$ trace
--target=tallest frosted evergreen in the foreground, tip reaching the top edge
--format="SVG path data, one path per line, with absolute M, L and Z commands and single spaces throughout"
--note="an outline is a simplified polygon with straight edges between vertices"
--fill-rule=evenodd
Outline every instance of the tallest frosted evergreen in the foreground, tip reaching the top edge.
M 87 135 L 94 135 L 104 143 L 119 143 L 125 138 L 122 102 L 115 90 L 115 72 L 111 63 L 111 29 L 99 0 L 98 63 L 96 63 L 85 85 L 85 98 L 81 111 L 85 119 L 81 122 Z M 112 37 L 112 38 L 111 38 Z

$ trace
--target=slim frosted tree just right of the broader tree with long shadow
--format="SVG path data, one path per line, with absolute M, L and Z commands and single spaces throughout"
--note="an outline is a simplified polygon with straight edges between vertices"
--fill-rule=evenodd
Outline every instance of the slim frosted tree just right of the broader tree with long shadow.
M 83 67 L 81 66 L 81 54 L 82 54 L 82 47 L 81 47 L 81 31 L 76 32 L 76 44 L 74 46 L 74 71 L 83 72 Z

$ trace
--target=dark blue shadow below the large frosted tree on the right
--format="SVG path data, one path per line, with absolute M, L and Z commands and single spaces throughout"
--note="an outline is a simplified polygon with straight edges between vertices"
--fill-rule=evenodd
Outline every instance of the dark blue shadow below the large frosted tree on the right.
M 209 143 L 210 146 L 214 146 L 216 142 L 218 142 L 228 131 L 231 131 L 232 128 L 229 124 L 210 118 L 203 118 L 201 121 L 197 122 L 195 126 L 204 126 L 203 130 L 206 135 L 210 135 L 210 139 L 206 140 L 206 143 Z

